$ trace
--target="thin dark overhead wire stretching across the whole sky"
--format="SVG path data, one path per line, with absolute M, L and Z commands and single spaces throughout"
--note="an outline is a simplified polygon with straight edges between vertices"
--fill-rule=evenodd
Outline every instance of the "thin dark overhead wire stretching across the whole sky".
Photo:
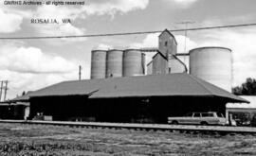
M 229 26 L 206 26 L 206 27 L 195 27 L 195 28 L 183 28 L 183 29 L 170 29 L 171 32 L 179 31 L 196 31 L 196 30 L 206 30 L 206 29 L 217 29 L 217 28 L 229 28 L 229 27 L 241 27 L 241 26 L 256 26 L 254 24 L 242 24 L 242 25 L 229 25 Z M 106 36 L 124 36 L 124 35 L 141 35 L 141 34 L 151 34 L 159 33 L 162 30 L 156 31 L 139 31 L 139 32 L 120 32 L 120 33 L 111 33 L 111 34 L 89 34 L 89 35 L 71 35 L 71 36 L 35 36 L 35 37 L 7 37 L 0 38 L 0 40 L 37 40 L 37 39 L 64 39 L 64 38 L 90 38 L 90 37 L 106 37 Z

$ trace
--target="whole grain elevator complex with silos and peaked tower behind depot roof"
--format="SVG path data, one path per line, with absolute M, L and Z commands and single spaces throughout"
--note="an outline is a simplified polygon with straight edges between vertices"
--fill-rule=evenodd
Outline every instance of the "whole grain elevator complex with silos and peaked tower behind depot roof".
M 231 92 L 232 56 L 226 47 L 198 47 L 177 53 L 174 35 L 165 29 L 158 36 L 158 47 L 145 65 L 143 49 L 92 50 L 91 78 L 135 77 L 189 73 Z

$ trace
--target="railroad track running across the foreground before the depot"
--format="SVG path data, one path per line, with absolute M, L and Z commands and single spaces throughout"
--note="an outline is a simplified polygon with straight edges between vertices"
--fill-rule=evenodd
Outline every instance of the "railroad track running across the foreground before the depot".
M 195 125 L 165 125 L 165 124 L 134 124 L 134 123 L 102 123 L 102 122 L 68 122 L 68 121 L 38 121 L 38 120 L 0 120 L 0 123 L 33 124 L 68 126 L 92 129 L 128 129 L 128 130 L 169 130 L 189 133 L 220 133 L 220 134 L 256 134 L 256 128 L 230 126 L 195 126 Z

